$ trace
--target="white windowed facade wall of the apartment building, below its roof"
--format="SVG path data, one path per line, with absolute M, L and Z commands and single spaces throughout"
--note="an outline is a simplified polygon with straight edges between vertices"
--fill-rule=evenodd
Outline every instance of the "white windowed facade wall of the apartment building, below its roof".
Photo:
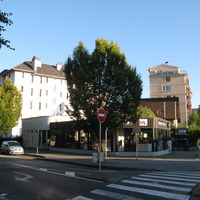
M 14 74 L 14 78 L 13 78 Z M 66 80 L 15 71 L 10 77 L 22 91 L 22 119 L 37 116 L 66 115 Z

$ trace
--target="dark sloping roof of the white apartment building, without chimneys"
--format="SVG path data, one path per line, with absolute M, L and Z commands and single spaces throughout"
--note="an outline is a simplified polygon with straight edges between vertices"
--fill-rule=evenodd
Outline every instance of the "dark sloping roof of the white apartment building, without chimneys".
M 13 67 L 11 70 L 4 70 L 1 72 L 1 75 L 6 75 L 7 73 L 10 73 L 10 71 L 22 71 L 22 72 L 29 72 L 34 73 L 38 75 L 43 76 L 55 76 L 59 78 L 65 78 L 65 73 L 63 71 L 57 70 L 56 66 L 54 65 L 47 65 L 42 64 L 41 67 L 37 67 L 37 70 L 34 71 L 32 68 L 32 63 L 29 61 L 23 62 L 22 64 L 17 65 L 16 67 Z

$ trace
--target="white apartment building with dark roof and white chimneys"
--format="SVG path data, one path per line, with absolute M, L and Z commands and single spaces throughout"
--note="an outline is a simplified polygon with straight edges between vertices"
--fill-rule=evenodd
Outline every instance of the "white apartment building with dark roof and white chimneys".
M 32 62 L 26 61 L 0 73 L 1 83 L 8 77 L 22 92 L 21 119 L 65 116 L 65 121 L 70 120 L 65 112 L 66 105 L 69 104 L 69 93 L 62 70 L 62 63 L 57 63 L 56 66 L 42 64 L 41 59 L 33 57 Z M 10 132 L 11 136 L 21 135 L 21 119 L 18 126 Z

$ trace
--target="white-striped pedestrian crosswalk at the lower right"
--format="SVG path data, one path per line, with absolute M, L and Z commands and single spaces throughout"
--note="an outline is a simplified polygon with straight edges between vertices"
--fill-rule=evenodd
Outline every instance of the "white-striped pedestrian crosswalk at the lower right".
M 200 172 L 151 172 L 108 184 L 105 189 L 92 190 L 88 197 L 72 200 L 189 200 L 190 192 L 199 183 Z

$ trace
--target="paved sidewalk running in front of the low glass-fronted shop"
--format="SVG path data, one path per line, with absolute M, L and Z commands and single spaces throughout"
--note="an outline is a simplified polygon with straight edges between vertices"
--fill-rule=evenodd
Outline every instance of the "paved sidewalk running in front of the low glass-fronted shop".
M 92 155 L 77 155 L 49 150 L 25 149 L 26 155 L 39 159 L 87 167 L 99 167 Z M 175 151 L 159 157 L 107 157 L 101 162 L 102 169 L 138 171 L 200 171 L 200 151 Z

